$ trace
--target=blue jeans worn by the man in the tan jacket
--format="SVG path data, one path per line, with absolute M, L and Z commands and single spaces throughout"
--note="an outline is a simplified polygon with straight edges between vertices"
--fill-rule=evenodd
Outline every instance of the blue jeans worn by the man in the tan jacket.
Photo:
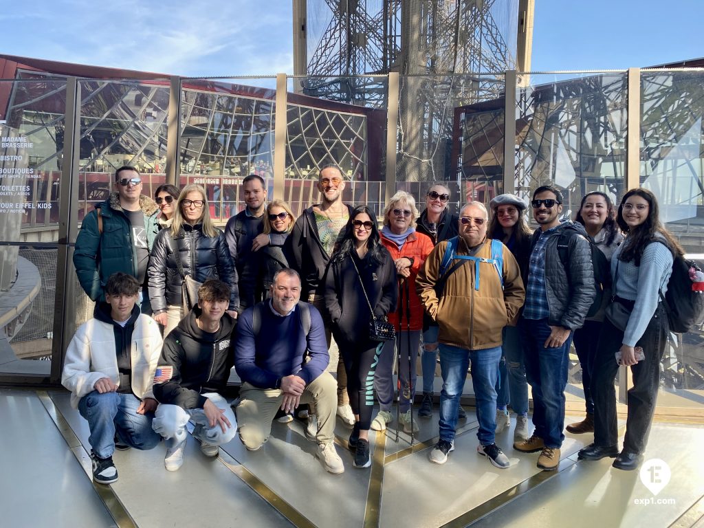
M 440 344 L 440 370 L 442 391 L 440 393 L 440 439 L 453 441 L 457 425 L 460 396 L 465 386 L 467 367 L 472 362 L 472 385 L 477 398 L 477 438 L 482 446 L 494 444 L 496 429 L 496 379 L 498 363 L 501 361 L 501 346 L 483 350 L 467 350 L 457 346 Z

